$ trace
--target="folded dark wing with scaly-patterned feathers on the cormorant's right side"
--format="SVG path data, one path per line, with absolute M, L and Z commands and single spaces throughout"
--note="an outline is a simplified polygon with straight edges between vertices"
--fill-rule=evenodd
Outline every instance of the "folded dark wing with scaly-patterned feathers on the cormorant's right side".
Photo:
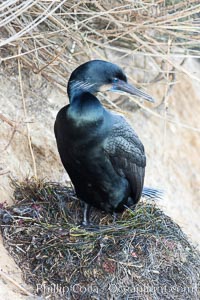
M 144 183 L 144 146 L 124 117 L 112 114 L 112 120 L 113 126 L 105 140 L 104 150 L 115 171 L 128 180 L 132 199 L 137 203 Z

